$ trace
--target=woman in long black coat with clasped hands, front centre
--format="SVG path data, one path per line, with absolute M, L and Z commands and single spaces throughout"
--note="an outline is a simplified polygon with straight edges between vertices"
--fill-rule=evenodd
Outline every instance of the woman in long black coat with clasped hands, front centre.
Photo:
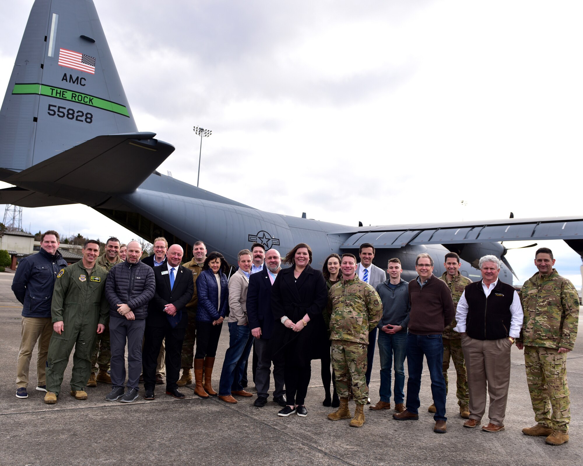
M 307 416 L 304 406 L 311 375 L 311 360 L 329 350 L 322 310 L 328 289 L 321 271 L 310 267 L 312 250 L 305 243 L 291 249 L 273 283 L 271 309 L 276 319 L 273 355 L 285 364 L 287 406 L 278 416 Z

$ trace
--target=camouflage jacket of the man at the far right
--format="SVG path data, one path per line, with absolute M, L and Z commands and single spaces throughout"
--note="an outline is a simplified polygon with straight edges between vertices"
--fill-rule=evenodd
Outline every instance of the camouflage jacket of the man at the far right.
M 573 350 L 579 321 L 579 296 L 573 284 L 555 269 L 538 272 L 520 291 L 524 324 L 518 342 L 526 346 Z

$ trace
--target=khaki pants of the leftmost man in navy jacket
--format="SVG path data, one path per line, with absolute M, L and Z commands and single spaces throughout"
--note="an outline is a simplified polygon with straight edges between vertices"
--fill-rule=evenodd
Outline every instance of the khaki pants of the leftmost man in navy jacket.
M 16 387 L 27 388 L 29 384 L 30 358 L 38 340 L 37 385 L 46 385 L 48 343 L 51 341 L 51 317 L 22 317 L 20 349 L 16 363 Z

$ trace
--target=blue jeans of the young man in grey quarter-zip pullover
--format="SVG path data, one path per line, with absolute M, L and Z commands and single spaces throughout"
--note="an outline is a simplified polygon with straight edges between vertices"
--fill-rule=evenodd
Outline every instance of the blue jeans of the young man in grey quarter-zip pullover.
M 395 404 L 405 401 L 405 345 L 407 331 L 388 334 L 378 332 L 378 354 L 381 356 L 381 401 L 391 403 L 391 366 L 395 354 Z

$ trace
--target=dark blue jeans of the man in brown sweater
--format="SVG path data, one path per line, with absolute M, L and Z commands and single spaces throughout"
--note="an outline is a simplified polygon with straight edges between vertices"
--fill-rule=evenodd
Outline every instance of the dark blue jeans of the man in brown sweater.
M 442 373 L 443 343 L 441 335 L 407 335 L 406 344 L 407 368 L 407 411 L 413 414 L 419 409 L 419 389 L 421 388 L 421 373 L 423 372 L 423 355 L 427 358 L 429 376 L 431 377 L 431 393 L 436 414 L 433 419 L 447 421 L 445 417 L 445 379 Z

